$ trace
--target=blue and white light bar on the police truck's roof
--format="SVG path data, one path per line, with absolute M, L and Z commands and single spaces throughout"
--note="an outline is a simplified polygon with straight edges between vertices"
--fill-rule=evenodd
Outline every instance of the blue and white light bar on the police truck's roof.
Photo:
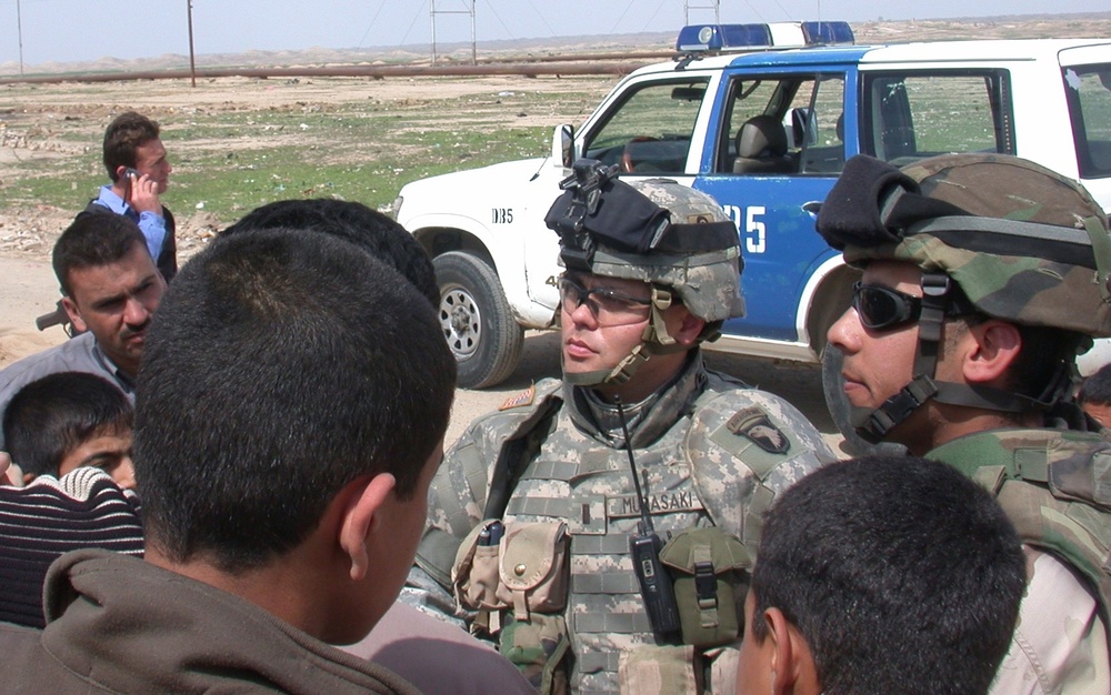
M 675 50 L 744 51 L 768 48 L 852 43 L 849 22 L 773 22 L 771 24 L 690 24 L 679 30 Z

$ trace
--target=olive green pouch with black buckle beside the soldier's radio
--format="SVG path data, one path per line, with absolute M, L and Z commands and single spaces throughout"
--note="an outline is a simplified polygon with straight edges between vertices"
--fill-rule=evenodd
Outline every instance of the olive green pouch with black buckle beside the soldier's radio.
M 680 532 L 660 551 L 670 567 L 683 644 L 711 647 L 740 638 L 743 572 L 752 566 L 737 536 L 717 526 Z

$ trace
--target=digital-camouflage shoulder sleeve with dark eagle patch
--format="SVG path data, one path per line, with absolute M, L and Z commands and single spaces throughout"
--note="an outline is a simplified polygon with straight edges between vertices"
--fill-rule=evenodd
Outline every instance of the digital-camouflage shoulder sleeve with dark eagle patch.
M 837 459 L 798 409 L 755 389 L 700 397 L 685 444 L 711 518 L 749 547 L 755 547 L 775 495 Z

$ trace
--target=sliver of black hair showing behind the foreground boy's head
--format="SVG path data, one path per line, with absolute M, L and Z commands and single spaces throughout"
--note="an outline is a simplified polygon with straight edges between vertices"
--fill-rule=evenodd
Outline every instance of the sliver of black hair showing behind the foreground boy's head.
M 354 242 L 408 278 L 432 306 L 440 305 L 440 288 L 428 253 L 403 226 L 377 210 L 323 198 L 280 200 L 256 208 L 223 234 L 274 228 L 327 232 Z

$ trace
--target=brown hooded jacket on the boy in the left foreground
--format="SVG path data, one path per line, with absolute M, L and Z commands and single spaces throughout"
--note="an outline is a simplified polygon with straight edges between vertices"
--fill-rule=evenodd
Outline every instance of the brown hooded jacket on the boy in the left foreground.
M 43 603 L 43 631 L 0 624 L 6 693 L 419 693 L 237 596 L 127 555 L 62 555 Z

